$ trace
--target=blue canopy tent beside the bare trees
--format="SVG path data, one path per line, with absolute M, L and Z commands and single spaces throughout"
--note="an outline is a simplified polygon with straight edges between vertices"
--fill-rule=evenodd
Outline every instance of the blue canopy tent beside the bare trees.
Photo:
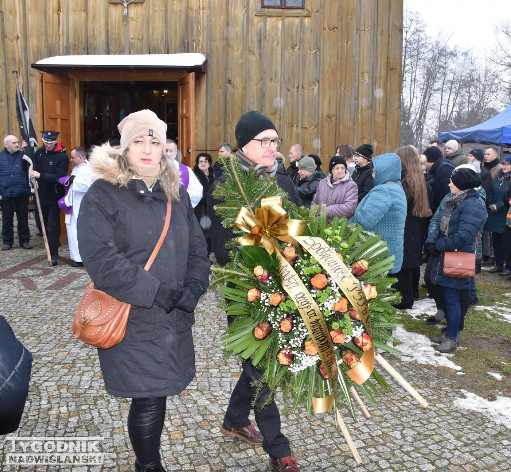
M 440 141 L 456 139 L 459 143 L 494 144 L 498 146 L 511 146 L 511 105 L 490 120 L 480 125 L 458 131 L 444 131 L 438 133 Z

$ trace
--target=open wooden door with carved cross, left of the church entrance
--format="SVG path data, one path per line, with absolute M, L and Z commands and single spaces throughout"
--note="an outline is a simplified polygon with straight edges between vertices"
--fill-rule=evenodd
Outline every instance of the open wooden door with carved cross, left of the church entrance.
M 57 138 L 67 150 L 67 156 L 74 147 L 76 135 L 74 121 L 76 110 L 75 81 L 67 77 L 58 77 L 51 74 L 38 74 L 39 88 L 37 91 L 38 124 L 39 131 L 60 131 Z M 41 135 L 39 135 L 41 138 Z M 42 141 L 40 141 L 42 144 Z M 71 173 L 71 169 L 69 170 Z M 65 226 L 65 211 L 60 212 L 60 242 L 67 242 L 67 230 Z

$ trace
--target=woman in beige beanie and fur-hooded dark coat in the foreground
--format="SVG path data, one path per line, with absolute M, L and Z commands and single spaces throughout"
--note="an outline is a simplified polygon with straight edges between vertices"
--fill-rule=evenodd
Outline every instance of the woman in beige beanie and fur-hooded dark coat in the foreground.
M 96 286 L 131 303 L 124 339 L 98 349 L 106 390 L 131 398 L 128 433 L 136 472 L 165 472 L 159 443 L 166 398 L 195 375 L 194 309 L 206 291 L 210 261 L 190 198 L 165 157 L 167 125 L 150 110 L 120 124 L 121 149 L 108 143 L 90 157 L 96 181 L 78 218 L 83 264 Z M 160 250 L 144 266 L 172 217 Z

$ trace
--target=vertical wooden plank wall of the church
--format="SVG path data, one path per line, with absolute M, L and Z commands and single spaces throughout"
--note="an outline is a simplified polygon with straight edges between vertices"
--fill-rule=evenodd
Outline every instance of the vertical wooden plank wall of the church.
M 276 123 L 281 151 L 303 144 L 328 160 L 338 144 L 399 144 L 403 3 L 306 0 L 306 11 L 262 10 L 259 0 L 0 0 L 0 133 L 17 133 L 19 80 L 37 125 L 39 59 L 71 54 L 200 52 L 196 149 L 236 145 L 241 113 Z M 147 80 L 147 77 L 145 77 Z M 215 155 L 215 153 L 213 153 Z

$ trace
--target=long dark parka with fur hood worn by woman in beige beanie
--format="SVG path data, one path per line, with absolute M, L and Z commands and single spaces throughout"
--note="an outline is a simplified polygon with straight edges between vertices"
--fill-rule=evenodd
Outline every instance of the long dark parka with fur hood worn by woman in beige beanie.
M 207 288 L 204 236 L 187 192 L 179 188 L 166 238 L 149 271 L 144 270 L 164 226 L 167 196 L 158 182 L 152 192 L 141 179 L 120 187 L 117 173 L 122 171 L 105 146 L 96 148 L 90 160 L 99 178 L 80 206 L 80 254 L 99 289 L 133 305 L 124 339 L 98 349 L 105 388 L 130 398 L 175 395 L 195 375 L 195 316 L 177 309 L 167 314 L 153 302 L 160 284 L 180 290 L 194 279 Z

